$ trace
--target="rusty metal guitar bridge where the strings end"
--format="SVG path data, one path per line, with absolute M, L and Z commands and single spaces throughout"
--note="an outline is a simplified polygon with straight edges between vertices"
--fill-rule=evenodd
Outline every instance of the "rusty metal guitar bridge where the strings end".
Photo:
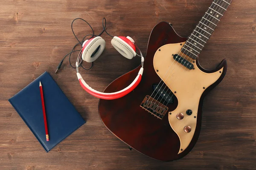
M 158 102 L 156 99 L 148 95 L 145 96 L 142 103 L 140 104 L 140 107 L 142 107 L 159 119 L 163 119 L 163 116 L 168 111 L 168 107 L 166 107 L 166 105 L 163 105 L 162 103 Z

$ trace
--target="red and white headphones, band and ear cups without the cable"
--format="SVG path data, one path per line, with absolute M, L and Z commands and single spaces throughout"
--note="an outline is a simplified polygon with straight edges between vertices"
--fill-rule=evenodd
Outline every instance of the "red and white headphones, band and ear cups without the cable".
M 144 57 L 140 51 L 140 49 L 137 47 L 137 45 L 134 44 L 134 40 L 131 37 L 113 37 L 111 40 L 111 44 L 113 45 L 116 50 L 122 54 L 125 58 L 132 59 L 133 57 L 136 56 L 136 48 L 140 52 L 141 57 L 141 68 L 140 71 L 137 75 L 137 77 L 134 79 L 134 81 L 126 88 L 124 88 L 121 91 L 117 91 L 114 93 L 102 93 L 99 91 L 94 90 L 91 88 L 87 83 L 84 81 L 82 78 L 81 74 L 79 73 L 79 65 L 81 65 L 82 60 L 86 62 L 93 62 L 95 61 L 104 51 L 106 42 L 102 37 L 94 37 L 90 38 L 89 40 L 85 40 L 82 49 L 79 52 L 79 55 L 76 60 L 76 75 L 79 79 L 80 85 L 82 88 L 84 88 L 85 91 L 87 91 L 89 94 L 98 97 L 100 99 L 118 99 L 122 96 L 125 96 L 126 94 L 130 93 L 131 91 L 134 90 L 134 88 L 139 85 L 142 74 L 143 74 L 143 62 L 144 62 Z M 81 60 L 82 58 L 82 60 Z

